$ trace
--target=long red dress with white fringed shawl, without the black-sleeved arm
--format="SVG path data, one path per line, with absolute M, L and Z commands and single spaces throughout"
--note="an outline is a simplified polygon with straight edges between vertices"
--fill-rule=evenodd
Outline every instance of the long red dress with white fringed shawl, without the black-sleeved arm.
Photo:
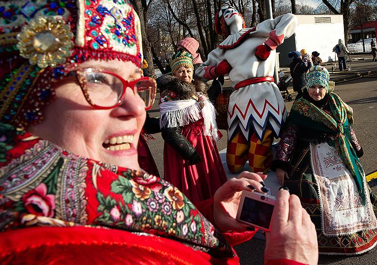
M 190 165 L 179 148 L 165 141 L 163 167 L 165 179 L 180 189 L 195 205 L 214 196 L 227 181 L 216 140 L 215 108 L 206 95 L 199 92 L 180 98 L 177 92 L 166 90 L 160 97 L 162 126 L 180 127 L 181 134 L 201 156 L 201 162 Z M 178 150 L 177 150 L 178 149 Z

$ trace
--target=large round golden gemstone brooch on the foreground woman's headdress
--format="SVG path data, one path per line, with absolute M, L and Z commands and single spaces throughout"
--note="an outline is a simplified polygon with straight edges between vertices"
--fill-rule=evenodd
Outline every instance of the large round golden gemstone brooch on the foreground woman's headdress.
M 71 56 L 73 33 L 63 20 L 54 17 L 30 19 L 17 35 L 20 56 L 40 68 L 56 67 Z

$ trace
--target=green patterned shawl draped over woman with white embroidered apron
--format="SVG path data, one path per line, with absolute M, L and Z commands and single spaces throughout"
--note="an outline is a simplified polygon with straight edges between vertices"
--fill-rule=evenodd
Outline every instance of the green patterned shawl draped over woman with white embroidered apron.
M 366 203 L 365 187 L 363 186 L 364 171 L 361 168 L 359 158 L 351 145 L 350 122 L 347 117 L 347 109 L 341 98 L 330 93 L 328 102 L 331 110 L 329 115 L 304 98 L 293 103 L 289 119 L 298 125 L 320 132 L 336 132 L 336 146 L 345 166 L 351 171 L 363 205 Z

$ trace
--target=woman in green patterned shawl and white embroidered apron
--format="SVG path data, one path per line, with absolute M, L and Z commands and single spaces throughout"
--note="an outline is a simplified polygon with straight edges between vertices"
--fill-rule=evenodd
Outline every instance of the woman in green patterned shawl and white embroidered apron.
M 363 253 L 377 244 L 377 201 L 359 162 L 363 151 L 352 129 L 352 108 L 329 92 L 326 68 L 313 66 L 307 76 L 272 170 L 310 214 L 320 253 Z

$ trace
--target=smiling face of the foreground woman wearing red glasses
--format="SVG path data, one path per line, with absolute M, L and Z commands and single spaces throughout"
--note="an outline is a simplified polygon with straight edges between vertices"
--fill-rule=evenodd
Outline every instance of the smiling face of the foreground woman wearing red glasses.
M 132 62 L 88 60 L 80 69 L 97 68 L 131 81 L 141 77 Z M 137 145 L 145 121 L 145 104 L 127 87 L 123 102 L 113 109 L 94 109 L 77 80 L 66 77 L 54 86 L 55 99 L 44 109 L 44 120 L 29 131 L 75 154 L 140 170 Z

